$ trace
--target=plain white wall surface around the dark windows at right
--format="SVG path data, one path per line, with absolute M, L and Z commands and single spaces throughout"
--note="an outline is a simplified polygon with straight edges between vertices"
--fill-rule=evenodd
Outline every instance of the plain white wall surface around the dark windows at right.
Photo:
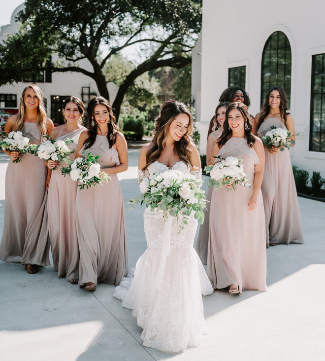
M 267 38 L 282 31 L 292 51 L 291 112 L 299 136 L 292 164 L 325 177 L 325 153 L 310 152 L 311 56 L 325 53 L 325 1 L 203 0 L 200 120 L 201 151 L 208 122 L 227 88 L 228 68 L 246 65 L 250 112 L 260 110 L 262 50 Z

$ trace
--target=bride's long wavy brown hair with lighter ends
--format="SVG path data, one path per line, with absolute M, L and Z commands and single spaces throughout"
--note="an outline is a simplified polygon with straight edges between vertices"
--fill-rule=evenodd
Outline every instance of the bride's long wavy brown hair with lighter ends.
M 193 131 L 191 112 L 184 103 L 178 102 L 177 100 L 167 100 L 162 104 L 162 109 L 156 118 L 155 136 L 152 140 L 153 146 L 147 152 L 147 163 L 143 170 L 147 169 L 150 164 L 154 163 L 160 157 L 162 150 L 164 150 L 166 146 L 166 138 L 170 124 L 179 114 L 187 114 L 189 116 L 189 125 L 182 138 L 174 143 L 174 154 L 177 154 L 186 164 L 191 164 L 190 144 L 193 142 L 191 136 Z

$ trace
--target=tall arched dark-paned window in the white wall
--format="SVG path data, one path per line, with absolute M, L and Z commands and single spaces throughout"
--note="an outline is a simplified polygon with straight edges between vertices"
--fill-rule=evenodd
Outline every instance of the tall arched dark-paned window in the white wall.
M 275 32 L 266 40 L 261 64 L 260 105 L 265 95 L 275 85 L 281 85 L 287 93 L 290 108 L 291 96 L 291 47 L 288 37 Z

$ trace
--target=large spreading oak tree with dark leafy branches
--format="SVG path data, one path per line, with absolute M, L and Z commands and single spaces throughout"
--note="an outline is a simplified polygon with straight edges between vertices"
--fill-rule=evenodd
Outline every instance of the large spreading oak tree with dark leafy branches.
M 142 59 L 119 85 L 113 108 L 141 74 L 191 63 L 201 26 L 201 0 L 26 0 L 19 32 L 0 45 L 0 84 L 31 72 L 83 73 L 109 99 L 104 67 L 122 49 L 140 46 Z M 51 59 L 49 61 L 49 59 Z M 88 59 L 90 67 L 78 61 Z

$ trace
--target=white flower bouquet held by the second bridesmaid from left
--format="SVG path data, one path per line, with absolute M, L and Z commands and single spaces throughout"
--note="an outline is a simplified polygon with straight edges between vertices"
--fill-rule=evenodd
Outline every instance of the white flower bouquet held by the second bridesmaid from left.
M 54 141 L 49 136 L 45 137 L 47 141 L 39 144 L 36 151 L 36 155 L 38 155 L 40 159 L 45 159 L 46 162 L 49 160 L 61 162 L 68 154 L 73 153 L 73 150 L 67 146 L 73 142 L 72 139 L 67 138 L 64 142 L 61 140 Z M 58 167 L 54 167 L 52 170 L 55 171 L 57 168 Z

